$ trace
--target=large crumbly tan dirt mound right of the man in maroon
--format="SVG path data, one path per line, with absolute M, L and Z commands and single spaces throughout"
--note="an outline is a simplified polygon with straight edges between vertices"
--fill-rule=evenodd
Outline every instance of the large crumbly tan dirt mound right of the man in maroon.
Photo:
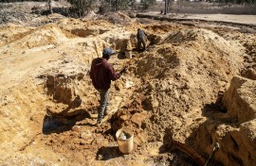
M 179 35 L 182 33 L 185 35 Z M 205 33 L 204 38 L 201 33 Z M 243 61 L 241 46 L 233 44 L 228 49 L 225 47 L 231 43 L 218 39 L 222 38 L 208 30 L 177 32 L 165 40 L 175 43 L 149 48 L 138 60 L 137 75 L 145 81 L 147 103 L 153 108 L 152 118 L 157 127 L 155 132 L 161 133 L 159 127 L 163 130 L 170 125 L 174 127 L 174 116 L 180 117 L 214 103 L 218 93 L 227 89 L 232 76 L 238 74 Z M 152 139 L 163 137 L 155 132 Z

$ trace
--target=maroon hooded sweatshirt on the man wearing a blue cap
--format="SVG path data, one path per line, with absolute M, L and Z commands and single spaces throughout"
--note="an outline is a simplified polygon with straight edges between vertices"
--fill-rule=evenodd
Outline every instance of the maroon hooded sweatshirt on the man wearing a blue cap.
M 92 61 L 90 78 L 94 88 L 107 90 L 110 88 L 111 80 L 119 79 L 120 74 L 116 74 L 113 66 L 105 58 L 95 58 Z

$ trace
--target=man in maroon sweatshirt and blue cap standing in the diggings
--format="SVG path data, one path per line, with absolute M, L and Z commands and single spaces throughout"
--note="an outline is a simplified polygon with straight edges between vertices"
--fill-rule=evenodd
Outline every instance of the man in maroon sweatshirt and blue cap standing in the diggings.
M 115 81 L 119 79 L 120 75 L 126 71 L 126 67 L 123 68 L 119 74 L 117 74 L 113 66 L 108 63 L 108 59 L 111 55 L 115 54 L 110 48 L 105 47 L 102 52 L 102 58 L 95 58 L 92 61 L 90 78 L 94 88 L 100 92 L 101 96 L 101 108 L 98 114 L 97 125 L 102 124 L 104 113 L 109 105 L 109 89 L 111 80 Z

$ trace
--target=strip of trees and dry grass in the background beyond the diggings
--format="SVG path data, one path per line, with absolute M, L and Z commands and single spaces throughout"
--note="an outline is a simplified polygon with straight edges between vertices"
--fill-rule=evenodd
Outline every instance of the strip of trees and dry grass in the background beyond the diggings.
M 53 0 L 36 0 L 49 2 Z M 64 1 L 59 0 L 57 2 Z M 256 0 L 66 0 L 70 11 L 84 16 L 94 10 L 100 14 L 118 10 L 157 11 L 168 13 L 198 14 L 256 14 Z M 24 0 L 0 0 L 0 3 L 24 2 Z M 48 3 L 50 4 L 50 3 Z

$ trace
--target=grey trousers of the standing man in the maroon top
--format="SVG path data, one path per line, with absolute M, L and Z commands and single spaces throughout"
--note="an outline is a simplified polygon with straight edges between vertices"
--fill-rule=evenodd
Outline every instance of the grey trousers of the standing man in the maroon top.
M 101 121 L 104 117 L 105 109 L 109 105 L 109 89 L 108 90 L 97 90 L 100 92 L 101 96 L 101 106 L 98 113 L 98 121 Z

